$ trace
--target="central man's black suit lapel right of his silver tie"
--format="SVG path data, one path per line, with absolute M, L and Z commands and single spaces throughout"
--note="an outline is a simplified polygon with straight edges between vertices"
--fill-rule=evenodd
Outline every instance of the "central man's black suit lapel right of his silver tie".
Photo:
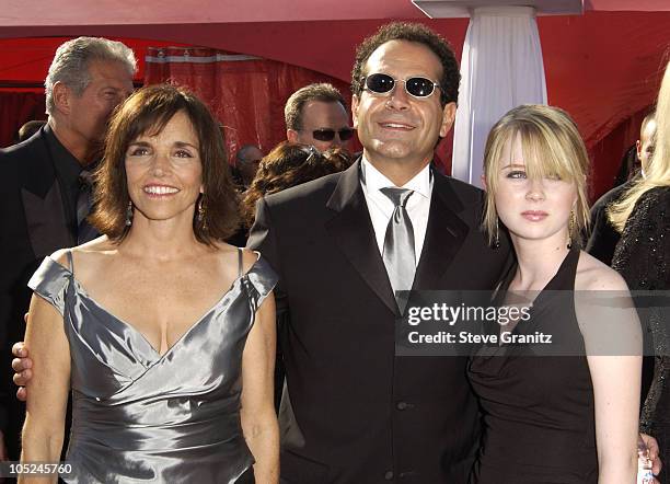
M 415 290 L 440 289 L 440 279 L 470 230 L 457 215 L 463 205 L 449 186 L 448 178 L 437 172 L 434 175 L 426 238 L 412 287 Z

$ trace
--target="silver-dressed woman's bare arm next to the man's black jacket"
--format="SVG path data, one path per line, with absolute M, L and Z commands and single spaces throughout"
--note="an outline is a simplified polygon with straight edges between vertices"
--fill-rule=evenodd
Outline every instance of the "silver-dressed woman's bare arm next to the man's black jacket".
M 279 428 L 274 404 L 275 300 L 268 295 L 258 311 L 242 356 L 242 430 L 256 463 L 258 484 L 279 481 Z

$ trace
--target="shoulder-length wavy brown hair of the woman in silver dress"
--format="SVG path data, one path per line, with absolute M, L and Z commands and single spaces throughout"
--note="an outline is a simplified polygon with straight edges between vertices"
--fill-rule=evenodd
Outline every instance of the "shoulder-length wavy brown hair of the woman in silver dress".
M 205 217 L 194 215 L 196 240 L 213 245 L 239 227 L 238 198 L 218 123 L 207 106 L 189 91 L 168 84 L 136 91 L 112 117 L 103 161 L 95 172 L 94 211 L 90 222 L 101 233 L 120 242 L 128 233 L 126 211 L 130 197 L 126 177 L 126 151 L 142 135 L 161 132 L 172 117 L 184 112 L 198 136 L 203 163 Z M 198 199 L 198 203 L 200 199 Z

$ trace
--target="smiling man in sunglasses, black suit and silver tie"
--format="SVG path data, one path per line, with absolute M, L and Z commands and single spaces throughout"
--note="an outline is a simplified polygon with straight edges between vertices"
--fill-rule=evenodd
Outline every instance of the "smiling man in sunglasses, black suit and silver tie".
M 362 157 L 259 201 L 249 242 L 279 275 L 281 482 L 464 484 L 480 446 L 466 358 L 397 357 L 394 337 L 394 289 L 490 289 L 508 260 L 480 231 L 483 193 L 430 169 L 458 62 L 427 27 L 391 24 L 353 76 Z

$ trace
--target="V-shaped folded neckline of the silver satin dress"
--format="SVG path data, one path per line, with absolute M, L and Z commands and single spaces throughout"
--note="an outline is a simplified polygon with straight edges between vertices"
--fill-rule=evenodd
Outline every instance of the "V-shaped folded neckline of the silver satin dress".
M 254 251 L 254 253 L 256 254 L 257 258 L 256 258 L 256 261 L 254 261 L 254 263 L 251 265 L 251 267 L 245 273 L 239 275 L 232 281 L 230 288 L 228 288 L 221 295 L 221 297 L 209 309 L 207 309 L 201 316 L 199 316 L 194 323 L 192 323 L 188 326 L 188 329 L 172 345 L 170 345 L 170 347 L 165 350 L 165 353 L 162 353 L 162 354 L 158 349 L 155 349 L 155 347 L 151 344 L 149 338 L 147 338 L 145 333 L 139 331 L 132 323 L 129 323 L 129 322 L 125 321 L 124 319 L 117 316 L 112 311 L 109 311 L 104 306 L 102 306 L 100 302 L 97 302 L 89 293 L 89 291 L 85 289 L 85 287 L 79 281 L 79 279 L 77 279 L 77 277 L 74 276 L 74 273 L 71 269 L 69 269 L 68 267 L 66 267 L 62 264 L 60 264 L 59 262 L 54 260 L 51 256 L 47 256 L 47 257 L 54 264 L 58 265 L 60 268 L 62 268 L 69 275 L 71 280 L 74 283 L 74 288 L 76 288 L 76 290 L 77 290 L 77 292 L 79 293 L 80 297 L 83 297 L 84 299 L 91 301 L 93 304 L 95 304 L 95 307 L 97 309 L 100 309 L 105 314 L 107 314 L 109 318 L 112 318 L 114 321 L 119 323 L 122 326 L 124 326 L 124 329 L 127 329 L 131 333 L 134 333 L 137 336 L 139 336 L 147 344 L 147 346 L 149 346 L 149 348 L 151 348 L 151 350 L 153 352 L 154 356 L 157 356 L 158 359 L 161 360 L 161 359 L 164 359 L 169 354 L 171 354 L 175 347 L 181 345 L 181 343 L 188 336 L 188 334 L 190 334 L 193 331 L 195 331 L 195 329 L 198 327 L 203 321 L 207 320 L 207 316 L 210 315 L 213 311 L 216 311 L 228 299 L 228 297 L 233 292 L 235 287 L 238 285 L 240 285 L 243 279 L 247 278 L 249 275 L 256 268 L 258 262 L 261 261 L 261 253 L 257 252 L 257 251 Z

